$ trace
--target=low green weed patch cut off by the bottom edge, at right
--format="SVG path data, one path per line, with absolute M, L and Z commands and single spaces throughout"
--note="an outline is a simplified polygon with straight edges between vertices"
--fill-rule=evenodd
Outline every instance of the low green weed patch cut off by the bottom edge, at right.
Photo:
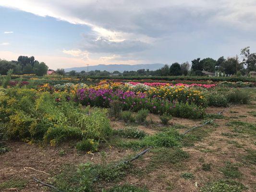
M 208 183 L 200 192 L 243 192 L 247 188 L 234 180 L 217 180 Z

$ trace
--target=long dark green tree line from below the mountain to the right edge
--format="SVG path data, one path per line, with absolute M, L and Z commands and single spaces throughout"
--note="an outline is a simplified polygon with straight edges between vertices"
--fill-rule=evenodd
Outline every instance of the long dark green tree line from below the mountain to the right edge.
M 75 75 L 89 75 L 89 76 L 108 76 L 108 75 L 122 75 L 122 76 L 178 76 L 178 75 L 190 75 L 190 76 L 201 76 L 203 75 L 202 71 L 207 72 L 219 72 L 221 75 L 246 75 L 250 71 L 256 71 L 256 53 L 250 53 L 250 47 L 241 49 L 240 55 L 243 60 L 240 62 L 238 56 L 224 58 L 220 57 L 218 60 L 212 58 L 200 59 L 197 58 L 189 62 L 184 62 L 182 64 L 175 62 L 171 66 L 164 65 L 161 69 L 156 71 L 149 71 L 148 69 L 139 69 L 137 71 L 124 71 L 118 72 L 114 71 L 112 73 L 107 71 L 90 71 L 90 72 L 75 72 L 71 71 L 65 73 L 63 69 L 58 69 L 56 72 L 58 74 L 64 75 L 69 74 L 70 76 Z

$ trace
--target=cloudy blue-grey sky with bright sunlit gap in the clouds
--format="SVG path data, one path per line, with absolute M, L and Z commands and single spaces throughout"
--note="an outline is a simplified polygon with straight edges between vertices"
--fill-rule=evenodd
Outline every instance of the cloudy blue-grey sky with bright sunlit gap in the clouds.
M 57 69 L 234 57 L 256 52 L 255 10 L 256 0 L 0 0 L 0 59 Z

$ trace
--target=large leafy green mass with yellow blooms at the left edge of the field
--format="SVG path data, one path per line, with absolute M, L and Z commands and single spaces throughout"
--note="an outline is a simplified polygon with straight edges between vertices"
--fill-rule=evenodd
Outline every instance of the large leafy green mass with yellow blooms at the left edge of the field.
M 88 108 L 66 101 L 64 92 L 37 94 L 33 89 L 9 88 L 0 101 L 0 118 L 12 139 L 44 139 L 52 145 L 68 139 L 100 142 L 112 131 L 106 109 L 93 108 L 89 113 Z

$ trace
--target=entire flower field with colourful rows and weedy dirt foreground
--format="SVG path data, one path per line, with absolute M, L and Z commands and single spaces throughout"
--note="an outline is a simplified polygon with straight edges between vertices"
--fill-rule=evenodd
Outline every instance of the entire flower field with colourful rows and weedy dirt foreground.
M 250 169 L 246 166 L 254 165 L 255 151 L 251 143 L 256 131 L 255 88 L 235 88 L 250 87 L 248 83 L 114 79 L 87 81 L 89 83 L 71 79 L 47 82 L 33 75 L 28 77 L 26 81 L 12 79 L 5 88 L 0 87 L 0 157 L 9 162 L 3 165 L 2 174 L 8 172 L 8 165 L 19 162 L 14 160 L 17 153 L 26 167 L 33 167 L 29 165 L 33 162 L 39 170 L 50 170 L 48 162 L 53 162 L 52 176 L 36 177 L 63 192 L 126 192 L 127 189 L 149 192 L 148 188 L 167 192 L 171 189 L 170 183 L 158 178 L 158 172 L 163 174 L 165 170 L 172 173 L 165 173 L 166 180 L 179 180 L 183 187 L 188 186 L 185 191 L 219 189 L 219 185 L 238 192 L 253 188 L 253 179 L 245 180 L 251 177 L 250 173 L 237 166 Z M 225 148 L 227 141 L 237 147 Z M 24 143 L 27 145 L 21 146 Z M 145 158 L 141 156 L 136 164 L 127 161 L 146 148 L 150 151 L 143 155 Z M 239 158 L 233 158 L 232 151 L 239 154 Z M 44 157 L 37 157 L 37 153 L 43 153 Z M 244 159 L 248 159 L 247 163 Z M 223 163 L 224 160 L 237 164 Z M 212 169 L 216 171 L 211 172 Z M 239 177 L 226 176 L 234 170 Z M 4 181 L 0 190 L 9 189 L 6 186 L 11 185 L 17 190 L 40 191 L 36 188 L 42 187 L 30 182 L 30 174 L 35 177 L 37 173 L 26 172 L 25 180 L 21 174 L 24 175 L 18 171 L 13 173 L 13 182 L 24 185 L 6 184 L 5 179 L 0 178 Z M 206 174 L 212 182 L 204 179 Z M 221 179 L 221 174 L 226 174 L 224 178 L 228 180 L 214 180 L 215 177 Z M 241 175 L 246 177 L 243 179 Z M 230 183 L 232 177 L 244 184 Z M 142 183 L 130 188 L 126 180 L 143 180 L 146 188 Z M 150 184 L 155 180 L 164 188 Z M 193 180 L 197 180 L 199 186 L 195 186 Z M 116 185 L 118 182 L 122 184 Z M 144 189 L 146 191 L 141 191 Z M 181 186 L 172 189 L 178 192 Z

